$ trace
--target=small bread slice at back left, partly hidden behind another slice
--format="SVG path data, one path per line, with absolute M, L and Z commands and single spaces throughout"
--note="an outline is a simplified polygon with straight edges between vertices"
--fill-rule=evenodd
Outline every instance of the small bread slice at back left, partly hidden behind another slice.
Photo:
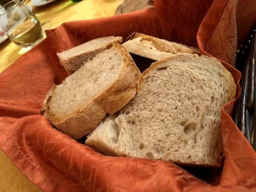
M 122 37 L 99 37 L 63 51 L 57 53 L 60 64 L 66 69 L 68 74 L 74 73 L 78 70 L 84 61 L 91 60 L 100 52 L 109 49 L 114 43 L 121 44 L 123 41 Z

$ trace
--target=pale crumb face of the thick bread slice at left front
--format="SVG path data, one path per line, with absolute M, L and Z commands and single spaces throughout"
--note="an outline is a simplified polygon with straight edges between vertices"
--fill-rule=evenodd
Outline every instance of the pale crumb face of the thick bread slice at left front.
M 120 51 L 108 49 L 88 60 L 75 74 L 69 75 L 55 87 L 55 92 L 61 94 L 52 98 L 52 112 L 62 117 L 79 111 L 90 98 L 106 89 L 119 76 L 124 66 L 124 60 L 120 58 Z

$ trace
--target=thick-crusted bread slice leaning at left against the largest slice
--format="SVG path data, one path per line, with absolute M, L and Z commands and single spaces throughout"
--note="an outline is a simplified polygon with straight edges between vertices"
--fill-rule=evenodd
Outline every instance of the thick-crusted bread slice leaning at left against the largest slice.
M 61 132 L 79 139 L 137 92 L 141 73 L 126 49 L 113 44 L 56 85 L 45 116 Z

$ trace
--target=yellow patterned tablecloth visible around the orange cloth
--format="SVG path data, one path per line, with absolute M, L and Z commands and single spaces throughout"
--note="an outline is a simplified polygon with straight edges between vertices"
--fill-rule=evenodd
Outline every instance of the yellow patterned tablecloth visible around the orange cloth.
M 28 1 L 26 4 L 31 5 Z M 55 28 L 61 23 L 74 20 L 85 20 L 111 16 L 120 4 L 120 0 L 82 0 L 72 2 L 71 0 L 56 0 L 44 6 L 32 6 L 32 11 L 41 23 L 51 21 L 50 28 Z M 10 66 L 24 53 L 9 39 L 0 44 L 0 73 Z M 12 163 L 7 155 L 0 149 L 0 191 L 41 191 L 30 182 L 25 175 Z

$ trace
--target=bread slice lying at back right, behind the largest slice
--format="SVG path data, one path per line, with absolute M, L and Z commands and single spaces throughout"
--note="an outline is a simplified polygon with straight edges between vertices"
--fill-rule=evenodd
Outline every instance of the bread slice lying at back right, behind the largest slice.
M 200 54 L 195 47 L 188 47 L 180 43 L 174 43 L 142 33 L 134 32 L 123 46 L 128 52 L 159 61 L 177 53 Z

